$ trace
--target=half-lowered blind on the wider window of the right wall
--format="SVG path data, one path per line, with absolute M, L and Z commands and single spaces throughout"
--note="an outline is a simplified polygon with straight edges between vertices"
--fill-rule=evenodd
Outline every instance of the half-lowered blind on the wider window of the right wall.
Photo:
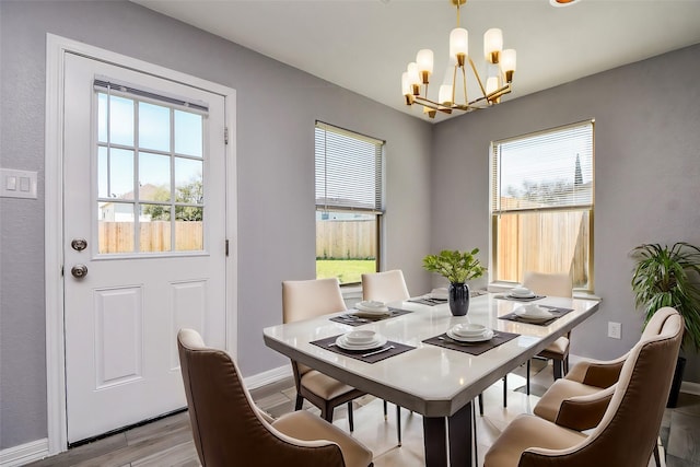
M 492 143 L 493 213 L 593 206 L 593 121 Z

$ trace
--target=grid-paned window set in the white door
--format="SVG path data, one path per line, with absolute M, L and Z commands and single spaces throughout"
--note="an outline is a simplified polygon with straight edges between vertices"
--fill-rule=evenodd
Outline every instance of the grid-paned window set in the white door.
M 94 86 L 100 253 L 202 250 L 206 104 Z

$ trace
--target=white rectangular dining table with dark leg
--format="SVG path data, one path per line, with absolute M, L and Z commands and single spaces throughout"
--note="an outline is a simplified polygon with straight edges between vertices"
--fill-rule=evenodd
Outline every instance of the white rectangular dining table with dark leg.
M 547 296 L 532 303 L 573 311 L 542 326 L 500 319 L 524 303 L 497 295 L 503 296 L 489 293 L 471 297 L 466 316 L 453 316 L 446 303 L 429 306 L 402 301 L 388 305 L 412 313 L 354 327 L 329 319 L 351 311 L 335 313 L 267 327 L 264 340 L 290 359 L 420 413 L 428 467 L 469 466 L 472 399 L 598 310 L 598 301 Z M 480 355 L 423 342 L 460 323 L 518 336 Z M 415 349 L 366 363 L 311 343 L 355 329 L 371 329 Z

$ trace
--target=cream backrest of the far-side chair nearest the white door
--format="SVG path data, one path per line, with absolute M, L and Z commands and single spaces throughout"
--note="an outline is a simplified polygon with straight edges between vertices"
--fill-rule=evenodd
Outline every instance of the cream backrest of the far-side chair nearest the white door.
M 338 279 L 282 281 L 282 320 L 313 318 L 347 310 Z

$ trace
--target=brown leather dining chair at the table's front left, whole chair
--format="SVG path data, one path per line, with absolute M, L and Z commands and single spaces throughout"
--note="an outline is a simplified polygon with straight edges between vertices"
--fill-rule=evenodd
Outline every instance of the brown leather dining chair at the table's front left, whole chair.
M 306 410 L 277 420 L 259 410 L 235 361 L 196 330 L 178 331 L 177 350 L 202 466 L 373 466 L 362 443 Z

